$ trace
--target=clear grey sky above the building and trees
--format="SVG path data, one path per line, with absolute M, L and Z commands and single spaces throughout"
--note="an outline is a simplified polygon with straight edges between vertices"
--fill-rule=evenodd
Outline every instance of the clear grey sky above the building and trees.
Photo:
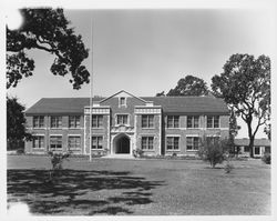
M 264 8 L 236 9 L 65 9 L 90 57 L 93 96 L 126 90 L 138 97 L 174 88 L 192 74 L 211 84 L 234 53 L 274 54 L 273 12 Z M 90 86 L 73 90 L 68 77 L 54 77 L 54 57 L 38 50 L 34 76 L 8 90 L 27 108 L 41 98 L 89 97 Z M 247 137 L 245 123 L 238 137 Z M 257 137 L 265 137 L 259 132 Z

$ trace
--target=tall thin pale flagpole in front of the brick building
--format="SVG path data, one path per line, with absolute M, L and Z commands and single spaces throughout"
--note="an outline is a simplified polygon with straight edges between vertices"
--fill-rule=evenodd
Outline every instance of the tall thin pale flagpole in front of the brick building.
M 93 21 L 91 18 L 91 61 L 90 61 L 90 161 L 92 160 L 91 149 L 92 149 L 92 80 L 93 80 Z

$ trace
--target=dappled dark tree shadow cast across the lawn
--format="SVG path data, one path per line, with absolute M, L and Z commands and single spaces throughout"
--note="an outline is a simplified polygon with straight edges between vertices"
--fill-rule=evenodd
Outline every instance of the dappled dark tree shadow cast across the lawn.
M 8 194 L 30 207 L 30 212 L 58 214 L 79 210 L 85 214 L 131 214 L 130 205 L 147 204 L 151 192 L 163 181 L 147 181 L 130 172 L 64 170 L 59 181 L 48 182 L 47 170 L 8 170 Z M 104 200 L 89 200 L 86 194 L 99 190 L 131 190 Z M 120 203 L 121 207 L 112 205 Z M 122 208 L 122 204 L 129 208 Z M 78 212 L 78 213 L 79 213 Z

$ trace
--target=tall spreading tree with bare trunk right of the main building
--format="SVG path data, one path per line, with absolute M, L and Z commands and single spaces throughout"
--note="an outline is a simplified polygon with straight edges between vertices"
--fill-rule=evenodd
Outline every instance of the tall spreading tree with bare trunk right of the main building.
M 246 122 L 253 157 L 255 135 L 270 120 L 270 59 L 237 53 L 230 56 L 223 69 L 220 76 L 212 78 L 213 92 Z

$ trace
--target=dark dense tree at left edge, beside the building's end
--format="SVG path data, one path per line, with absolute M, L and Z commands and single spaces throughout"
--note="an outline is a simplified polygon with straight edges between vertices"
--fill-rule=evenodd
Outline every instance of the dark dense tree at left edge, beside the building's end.
M 7 148 L 8 150 L 22 149 L 24 140 L 31 140 L 25 130 L 24 107 L 17 98 L 7 97 Z

